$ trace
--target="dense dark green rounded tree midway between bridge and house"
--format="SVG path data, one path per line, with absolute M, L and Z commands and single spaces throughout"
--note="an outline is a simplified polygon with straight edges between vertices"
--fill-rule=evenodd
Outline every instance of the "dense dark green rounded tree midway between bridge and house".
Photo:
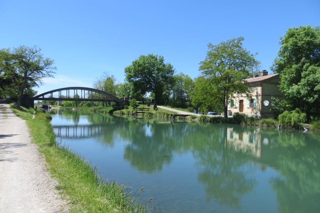
M 133 85 L 134 92 L 144 96 L 147 92 L 155 95 L 157 104 L 163 104 L 163 93 L 174 83 L 174 68 L 164 63 L 164 57 L 148 54 L 141 55 L 124 69 L 126 80 Z

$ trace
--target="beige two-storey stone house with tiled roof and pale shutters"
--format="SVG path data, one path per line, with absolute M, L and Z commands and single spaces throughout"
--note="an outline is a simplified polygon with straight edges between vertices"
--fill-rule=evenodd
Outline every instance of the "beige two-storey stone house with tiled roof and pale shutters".
M 244 113 L 249 117 L 272 118 L 271 97 L 283 99 L 284 94 L 279 90 L 279 74 L 268 75 L 262 70 L 260 75 L 244 79 L 249 85 L 251 97 L 245 94 L 234 94 L 229 99 L 228 110 L 230 114 Z

